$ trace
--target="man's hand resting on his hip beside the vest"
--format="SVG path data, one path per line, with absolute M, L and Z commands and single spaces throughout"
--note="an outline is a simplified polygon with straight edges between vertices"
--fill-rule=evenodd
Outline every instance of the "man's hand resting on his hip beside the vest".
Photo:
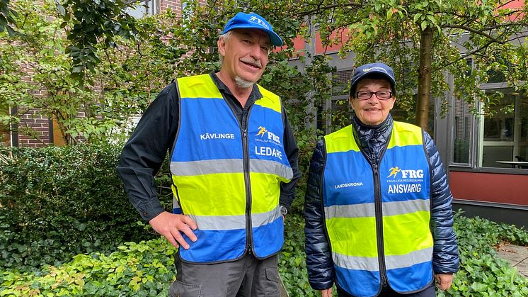
M 193 230 L 197 228 L 196 222 L 187 215 L 175 215 L 163 211 L 163 213 L 156 215 L 156 218 L 149 220 L 149 224 L 156 232 L 165 236 L 168 242 L 171 242 L 175 247 L 181 245 L 185 250 L 189 248 L 189 244 L 183 239 L 180 231 L 193 242 L 197 240 L 196 235 L 193 233 Z

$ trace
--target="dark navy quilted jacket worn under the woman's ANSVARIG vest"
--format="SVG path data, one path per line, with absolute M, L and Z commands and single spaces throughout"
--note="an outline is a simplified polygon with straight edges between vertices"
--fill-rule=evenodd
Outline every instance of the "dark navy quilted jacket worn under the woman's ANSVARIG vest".
M 362 125 L 357 118 L 352 123 L 354 137 L 368 159 L 377 160 L 388 143 L 393 120 L 389 115 L 378 126 Z M 454 273 L 459 268 L 457 237 L 453 232 L 453 214 L 451 202 L 453 196 L 449 190 L 447 175 L 444 172 L 440 154 L 429 134 L 423 132 L 423 140 L 432 169 L 431 221 L 430 229 L 434 238 L 432 267 L 435 274 Z M 326 146 L 324 140 L 318 142 L 311 158 L 308 184 L 304 202 L 306 225 L 306 266 L 312 288 L 323 290 L 333 285 L 335 274 L 326 229 L 322 203 L 323 170 L 326 164 Z

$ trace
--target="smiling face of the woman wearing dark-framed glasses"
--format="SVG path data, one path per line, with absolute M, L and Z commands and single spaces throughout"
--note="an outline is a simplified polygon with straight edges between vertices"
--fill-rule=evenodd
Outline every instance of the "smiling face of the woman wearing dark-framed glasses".
M 396 98 L 380 100 L 374 94 L 370 99 L 357 99 L 359 91 L 391 91 L 391 84 L 385 79 L 362 79 L 357 83 L 356 93 L 350 98 L 350 106 L 355 111 L 357 118 L 365 125 L 379 125 L 385 121 L 391 109 L 394 107 Z

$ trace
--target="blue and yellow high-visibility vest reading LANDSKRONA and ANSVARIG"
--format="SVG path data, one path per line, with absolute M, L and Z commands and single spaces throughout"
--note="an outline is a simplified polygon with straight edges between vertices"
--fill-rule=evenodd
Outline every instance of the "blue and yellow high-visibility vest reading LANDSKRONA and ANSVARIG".
M 379 164 L 352 125 L 325 136 L 323 206 L 338 286 L 376 296 L 383 281 L 410 293 L 431 284 L 430 164 L 422 130 L 394 122 Z

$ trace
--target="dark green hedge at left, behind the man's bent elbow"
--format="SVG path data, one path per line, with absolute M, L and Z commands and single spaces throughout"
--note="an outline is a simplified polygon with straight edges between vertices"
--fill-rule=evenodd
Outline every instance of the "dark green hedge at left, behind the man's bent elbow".
M 0 267 L 60 264 L 154 238 L 137 221 L 116 145 L 0 149 Z

